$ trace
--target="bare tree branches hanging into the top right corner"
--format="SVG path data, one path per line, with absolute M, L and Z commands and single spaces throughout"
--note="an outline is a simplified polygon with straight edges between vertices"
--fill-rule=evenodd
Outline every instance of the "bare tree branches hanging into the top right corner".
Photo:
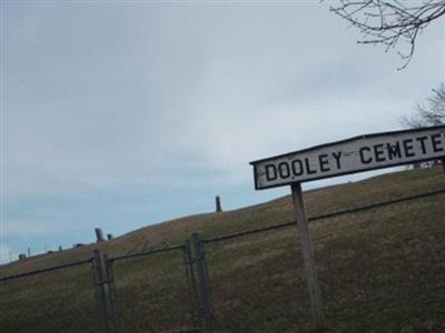
M 417 36 L 434 20 L 445 16 L 444 0 L 336 0 L 330 11 L 347 20 L 363 34 L 358 43 L 384 44 L 388 51 L 400 41 L 407 50 L 398 51 L 404 64 L 413 58 Z

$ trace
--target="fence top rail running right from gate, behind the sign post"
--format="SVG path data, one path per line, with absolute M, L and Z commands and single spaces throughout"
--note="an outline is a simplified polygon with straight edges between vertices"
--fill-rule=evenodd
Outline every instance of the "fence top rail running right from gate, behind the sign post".
M 323 219 L 327 219 L 327 218 L 334 218 L 334 216 L 339 216 L 339 215 L 343 215 L 343 214 L 355 213 L 355 212 L 359 212 L 359 211 L 365 211 L 365 210 L 369 210 L 369 209 L 375 209 L 375 208 L 379 208 L 379 206 L 384 206 L 384 205 L 389 205 L 389 204 L 394 204 L 394 203 L 398 203 L 398 202 L 403 202 L 403 201 L 408 201 L 408 200 L 421 199 L 421 198 L 435 195 L 435 194 L 441 194 L 441 193 L 445 193 L 445 189 L 424 192 L 424 193 L 419 193 L 419 194 L 406 195 L 406 196 L 403 196 L 403 198 L 396 198 L 396 199 L 393 199 L 393 200 L 387 200 L 387 201 L 382 201 L 382 202 L 373 202 L 373 203 L 369 203 L 369 204 L 359 205 L 359 206 L 352 208 L 352 209 L 338 210 L 338 211 L 330 212 L 330 213 L 325 213 L 325 214 L 320 214 L 320 215 L 310 216 L 310 218 L 308 218 L 308 221 L 309 222 L 318 221 L 318 220 L 323 220 Z M 287 228 L 287 226 L 294 225 L 296 223 L 297 223 L 296 221 L 284 222 L 284 223 L 269 225 L 269 226 L 265 226 L 265 228 L 251 229 L 251 230 L 235 232 L 235 233 L 225 234 L 225 235 L 220 235 L 220 236 L 209 238 L 209 239 L 202 240 L 202 242 L 204 243 L 212 243 L 212 242 L 226 241 L 226 240 L 229 240 L 229 239 L 239 238 L 239 236 L 244 236 L 244 235 L 249 235 L 249 234 L 254 234 L 254 233 L 259 233 L 259 232 L 265 232 L 265 231 L 271 231 L 271 230 L 276 230 L 276 229 Z

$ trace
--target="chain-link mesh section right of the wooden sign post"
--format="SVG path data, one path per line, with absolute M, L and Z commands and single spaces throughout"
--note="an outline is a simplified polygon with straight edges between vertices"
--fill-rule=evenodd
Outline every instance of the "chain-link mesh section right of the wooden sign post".
M 369 212 L 314 225 L 332 331 L 445 332 L 443 199 L 380 208 L 390 223 Z

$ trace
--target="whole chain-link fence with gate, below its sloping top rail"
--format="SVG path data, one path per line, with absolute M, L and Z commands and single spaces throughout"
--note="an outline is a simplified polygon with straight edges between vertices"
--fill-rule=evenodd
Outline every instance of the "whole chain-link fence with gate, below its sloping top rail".
M 399 219 L 394 225 L 403 225 L 411 211 L 395 211 L 388 204 L 444 193 L 432 191 L 309 219 L 330 218 L 313 232 L 332 332 L 399 332 L 409 321 L 425 332 L 445 329 L 437 319 L 443 293 L 429 290 L 422 296 L 428 284 L 443 285 L 445 278 L 445 248 L 434 233 L 443 210 L 431 212 L 436 220 L 429 225 L 413 222 L 399 232 L 397 241 L 409 246 L 386 241 L 395 230 L 378 225 L 383 222 L 374 221 L 372 213 L 347 215 L 386 209 L 387 215 Z M 358 232 L 349 233 L 348 219 Z M 425 228 L 431 229 L 423 235 L 428 240 L 419 240 Z M 110 258 L 96 250 L 90 260 L 0 278 L 0 332 L 308 332 L 312 311 L 297 232 L 290 221 L 217 238 L 194 234 L 184 244 Z M 428 241 L 436 245 L 428 246 Z M 423 261 L 413 266 L 415 256 Z M 424 273 L 432 271 L 434 275 Z M 425 309 L 429 320 L 416 321 Z

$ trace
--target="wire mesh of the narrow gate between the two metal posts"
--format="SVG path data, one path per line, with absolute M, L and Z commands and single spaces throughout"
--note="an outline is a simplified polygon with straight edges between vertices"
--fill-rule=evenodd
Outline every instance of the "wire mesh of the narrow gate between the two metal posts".
M 115 279 L 118 332 L 195 329 L 184 249 L 109 262 Z

